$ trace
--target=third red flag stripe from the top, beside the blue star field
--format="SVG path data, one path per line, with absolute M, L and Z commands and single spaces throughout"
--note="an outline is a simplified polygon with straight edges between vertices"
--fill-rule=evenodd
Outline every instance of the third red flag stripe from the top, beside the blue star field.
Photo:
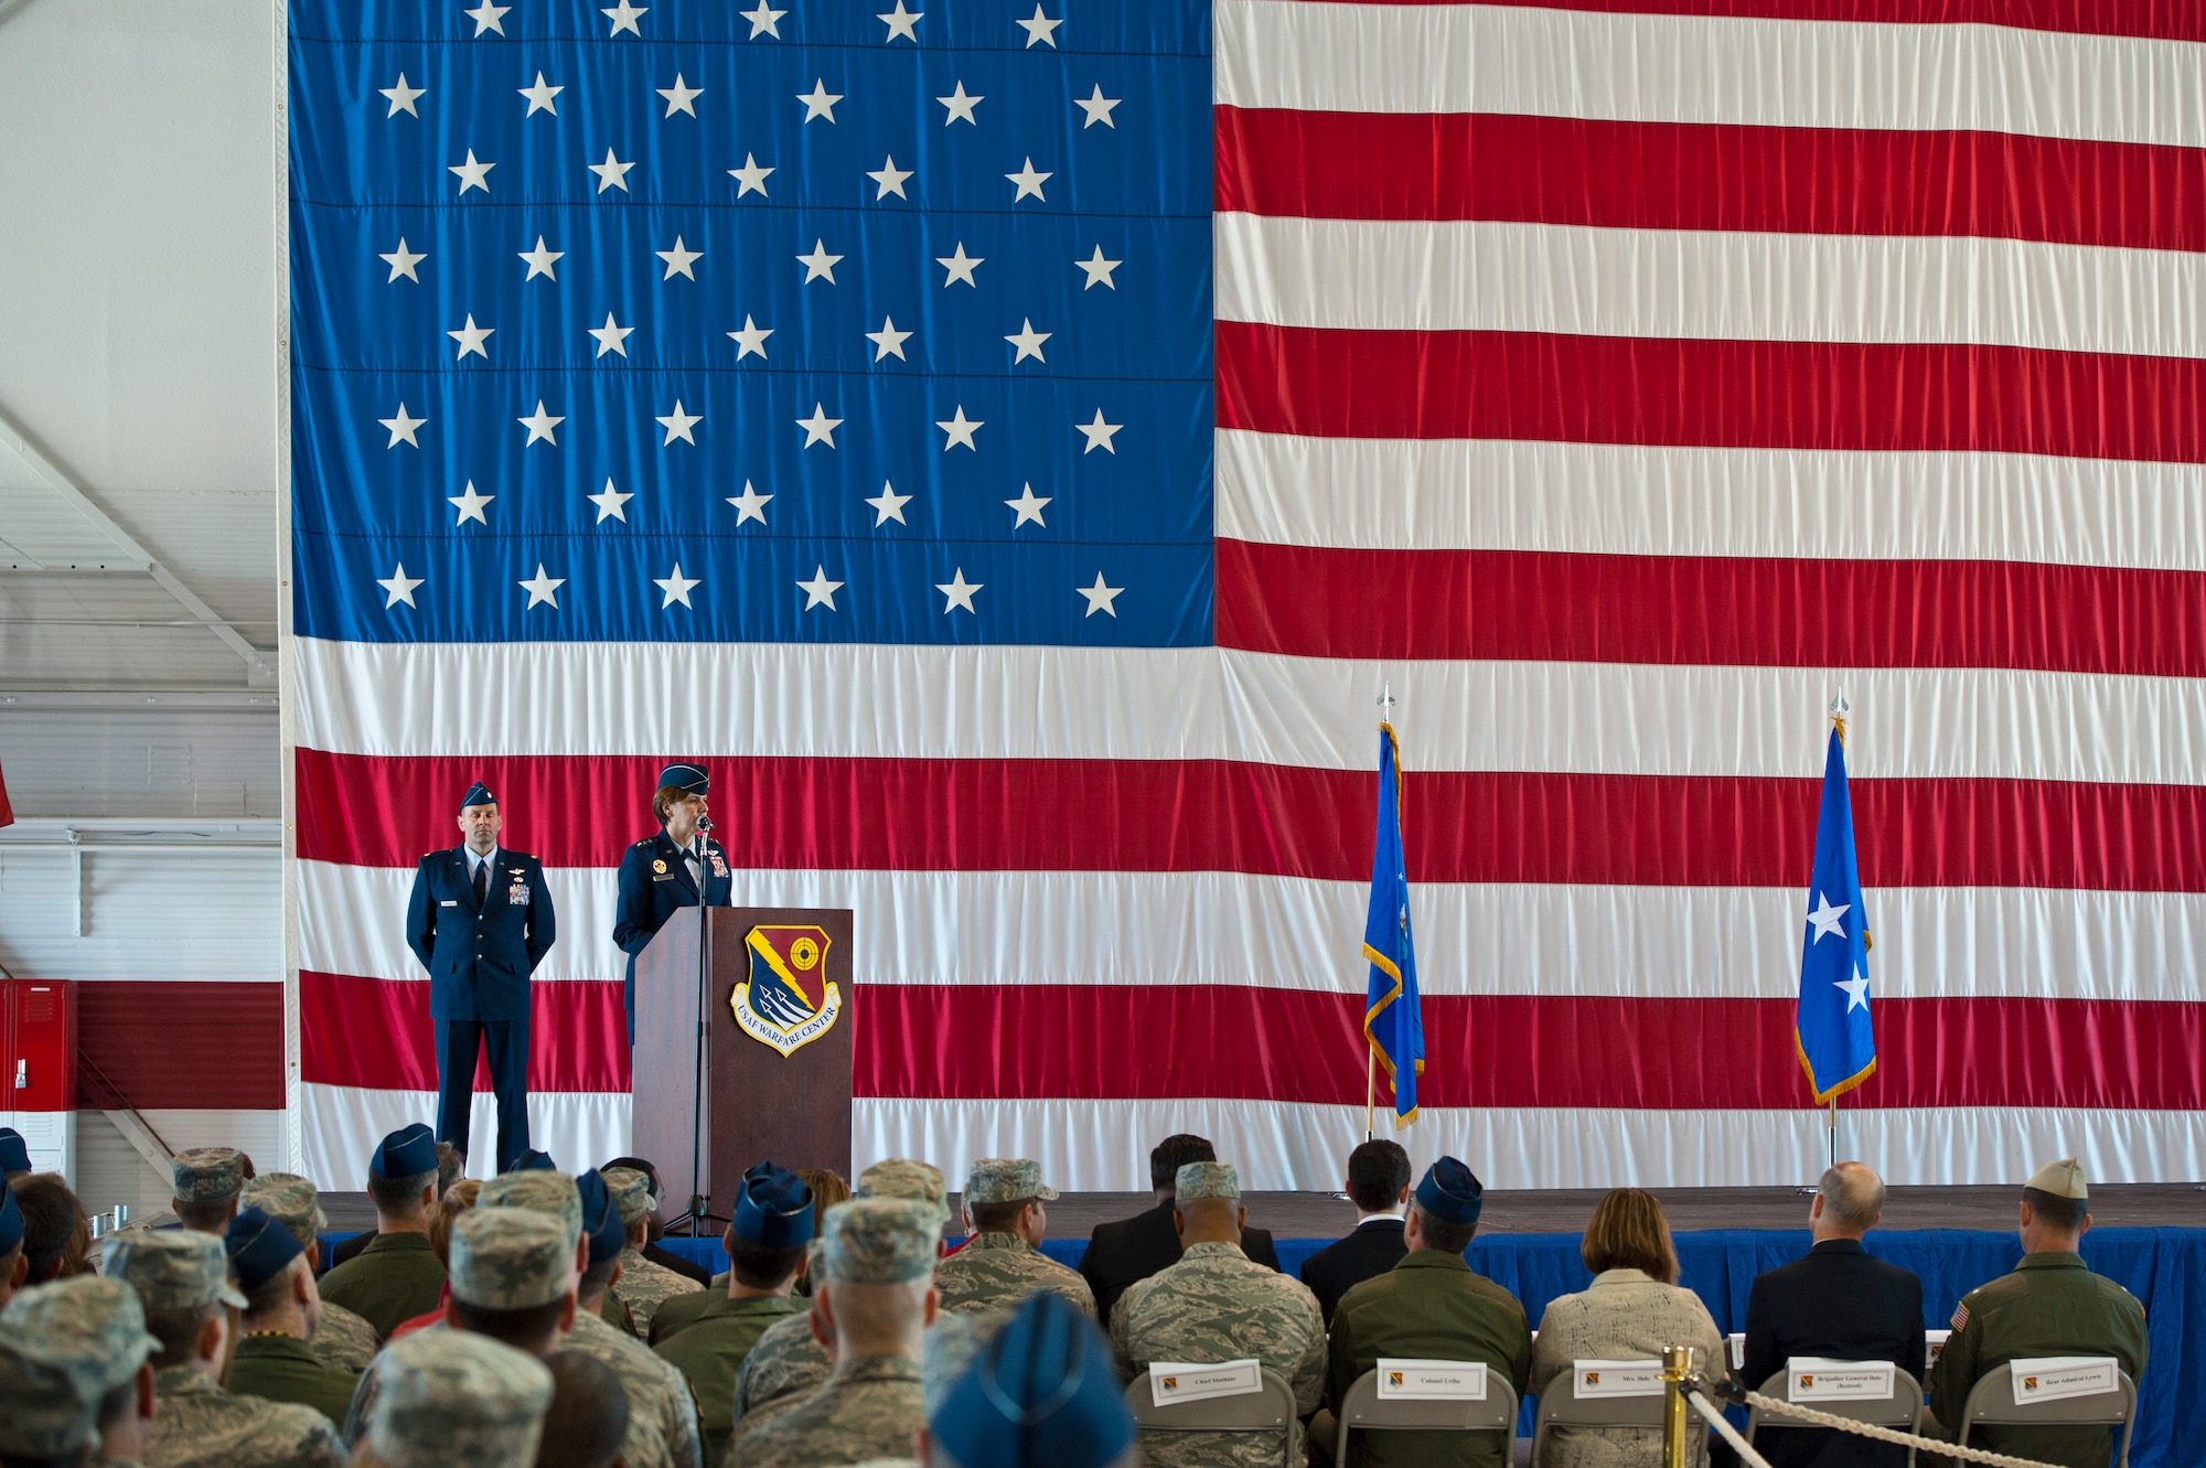
M 1218 322 L 1218 425 L 2206 463 L 2206 359 Z

